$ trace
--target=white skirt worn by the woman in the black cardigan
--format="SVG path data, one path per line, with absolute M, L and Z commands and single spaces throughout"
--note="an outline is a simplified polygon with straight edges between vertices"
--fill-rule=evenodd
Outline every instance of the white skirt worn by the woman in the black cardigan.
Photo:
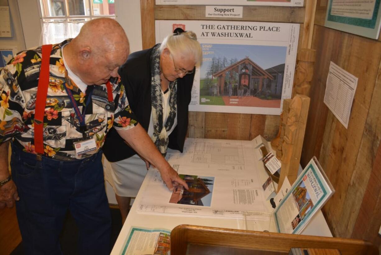
M 147 173 L 146 163 L 137 154 L 117 162 L 103 157 L 103 169 L 104 178 L 120 197 L 136 197 Z

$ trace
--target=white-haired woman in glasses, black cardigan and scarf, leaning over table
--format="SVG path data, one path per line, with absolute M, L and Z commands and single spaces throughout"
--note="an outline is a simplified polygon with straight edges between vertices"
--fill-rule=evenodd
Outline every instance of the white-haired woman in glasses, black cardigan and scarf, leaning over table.
M 197 36 L 177 28 L 162 43 L 132 53 L 119 70 L 131 110 L 164 156 L 167 148 L 182 152 L 184 147 L 195 66 L 201 61 Z M 149 165 L 114 129 L 103 151 L 112 168 L 105 170 L 106 180 L 114 188 L 124 223 Z

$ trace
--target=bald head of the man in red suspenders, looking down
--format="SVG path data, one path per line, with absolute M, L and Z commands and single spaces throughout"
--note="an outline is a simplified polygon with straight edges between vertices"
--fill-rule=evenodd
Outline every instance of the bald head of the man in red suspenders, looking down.
M 67 56 L 71 58 L 70 65 L 67 61 L 70 69 L 88 85 L 99 85 L 110 76 L 116 77 L 129 51 L 122 26 L 110 18 L 86 22 L 78 36 L 64 48 L 65 60 Z

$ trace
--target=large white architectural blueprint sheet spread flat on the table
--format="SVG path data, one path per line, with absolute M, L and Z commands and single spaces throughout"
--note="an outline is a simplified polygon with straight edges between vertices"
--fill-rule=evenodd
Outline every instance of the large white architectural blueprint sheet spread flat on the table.
M 168 151 L 166 159 L 189 190 L 168 191 L 158 170 L 150 169 L 138 213 L 244 218 L 250 212 L 268 220 L 271 208 L 262 187 L 268 176 L 260 156 L 253 157 L 256 142 L 187 138 L 184 152 Z

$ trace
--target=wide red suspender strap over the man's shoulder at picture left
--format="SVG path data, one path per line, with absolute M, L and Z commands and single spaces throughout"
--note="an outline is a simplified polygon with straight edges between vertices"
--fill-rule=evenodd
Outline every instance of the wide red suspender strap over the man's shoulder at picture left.
M 43 126 L 50 76 L 50 53 L 52 45 L 42 45 L 40 77 L 38 78 L 36 107 L 34 111 L 34 146 L 38 154 L 44 154 Z

